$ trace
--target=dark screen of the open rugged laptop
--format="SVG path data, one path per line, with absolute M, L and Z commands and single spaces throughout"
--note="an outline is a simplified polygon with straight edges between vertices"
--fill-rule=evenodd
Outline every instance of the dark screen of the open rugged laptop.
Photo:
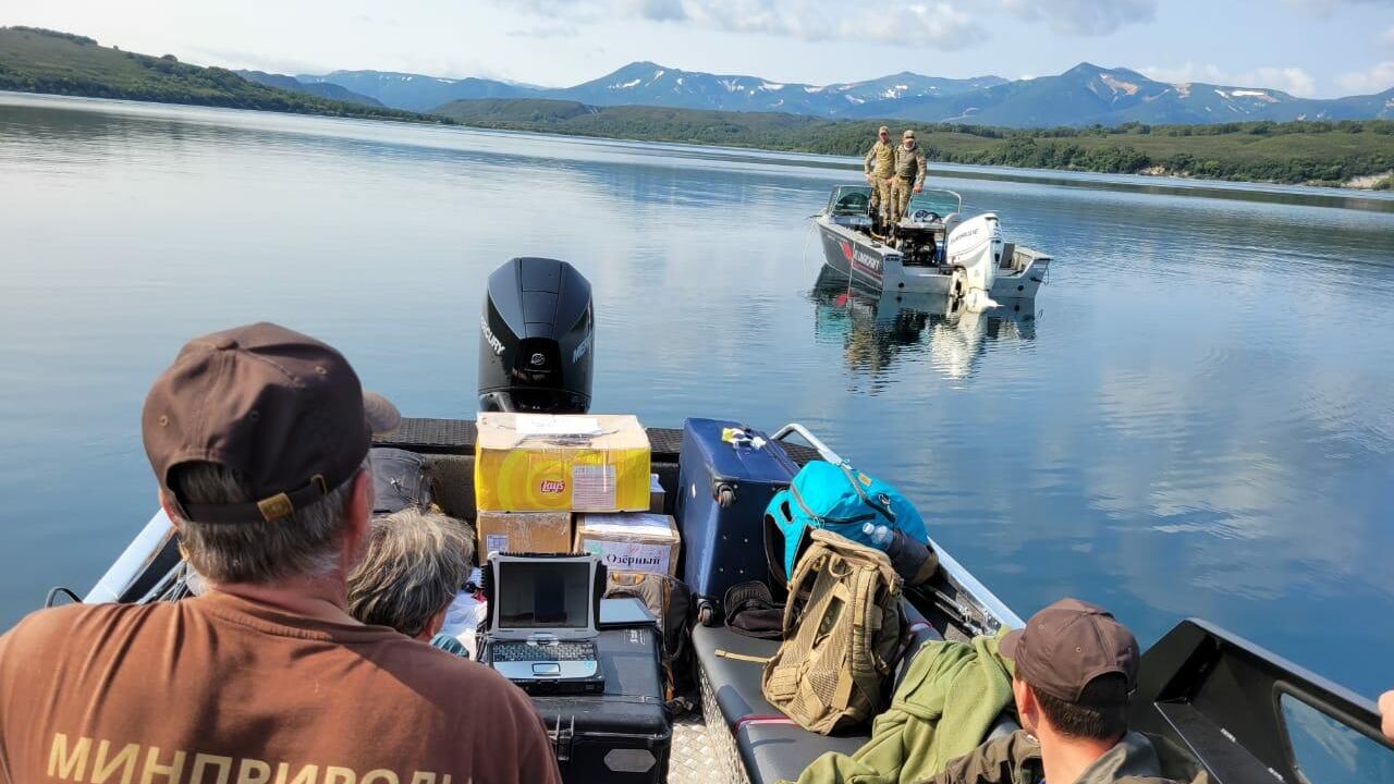
M 499 629 L 587 629 L 591 625 L 591 564 L 500 561 Z

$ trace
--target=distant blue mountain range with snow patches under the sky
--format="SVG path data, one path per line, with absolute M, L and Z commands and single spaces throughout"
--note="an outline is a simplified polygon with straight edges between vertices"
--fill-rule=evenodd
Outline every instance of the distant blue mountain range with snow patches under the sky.
M 1394 88 L 1379 95 L 1309 99 L 1267 88 L 1160 82 L 1128 68 L 1101 68 L 1090 63 L 1034 80 L 1006 81 L 993 75 L 949 80 L 902 71 L 821 86 L 683 71 L 647 61 L 559 89 L 386 71 L 333 71 L 296 78 L 305 85 L 339 85 L 413 112 L 431 112 L 450 100 L 530 98 L 590 106 L 786 112 L 828 119 L 895 117 L 1015 128 L 1394 117 Z

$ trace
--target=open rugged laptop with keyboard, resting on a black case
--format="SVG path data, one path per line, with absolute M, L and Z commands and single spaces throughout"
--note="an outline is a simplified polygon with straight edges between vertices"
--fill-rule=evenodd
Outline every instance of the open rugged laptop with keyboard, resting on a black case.
M 485 661 L 530 693 L 605 691 L 595 654 L 605 582 L 599 559 L 500 552 L 487 572 Z

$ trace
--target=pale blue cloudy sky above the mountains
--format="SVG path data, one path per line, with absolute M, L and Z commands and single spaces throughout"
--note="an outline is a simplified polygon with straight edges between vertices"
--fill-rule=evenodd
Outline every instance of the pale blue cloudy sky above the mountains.
M 201 64 L 549 86 L 633 60 L 813 84 L 1087 60 L 1306 96 L 1394 86 L 1394 0 L 6 0 L 0 24 Z

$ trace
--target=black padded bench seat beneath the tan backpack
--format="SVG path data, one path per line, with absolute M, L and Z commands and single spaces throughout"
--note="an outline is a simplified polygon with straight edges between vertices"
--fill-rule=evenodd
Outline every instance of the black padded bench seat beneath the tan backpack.
M 909 661 L 920 644 L 942 639 L 924 617 L 905 604 L 910 624 L 910 646 L 895 672 L 901 685 Z M 751 784 L 768 784 L 781 778 L 795 780 L 804 767 L 824 752 L 852 753 L 868 739 L 870 727 L 818 735 L 799 727 L 769 704 L 760 689 L 763 667 L 753 661 L 717 656 L 718 650 L 740 656 L 769 657 L 779 649 L 776 640 L 758 640 L 737 635 L 723 626 L 696 626 L 693 649 L 697 663 L 711 685 L 726 730 L 736 739 L 736 748 Z M 715 716 L 708 716 L 711 725 Z

